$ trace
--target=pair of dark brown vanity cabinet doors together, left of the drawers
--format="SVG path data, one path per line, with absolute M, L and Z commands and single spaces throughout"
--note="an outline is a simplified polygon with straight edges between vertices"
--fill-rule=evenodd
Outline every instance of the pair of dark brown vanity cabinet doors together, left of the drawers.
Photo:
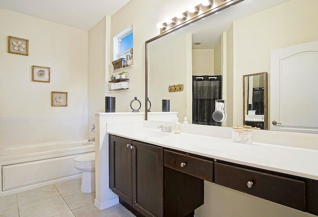
M 145 217 L 163 216 L 161 147 L 110 136 L 109 187 Z

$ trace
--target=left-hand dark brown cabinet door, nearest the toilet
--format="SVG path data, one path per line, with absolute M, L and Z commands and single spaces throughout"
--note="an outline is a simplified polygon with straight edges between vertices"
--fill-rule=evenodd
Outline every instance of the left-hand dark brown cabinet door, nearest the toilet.
M 132 206 L 132 141 L 116 136 L 109 141 L 109 187 Z

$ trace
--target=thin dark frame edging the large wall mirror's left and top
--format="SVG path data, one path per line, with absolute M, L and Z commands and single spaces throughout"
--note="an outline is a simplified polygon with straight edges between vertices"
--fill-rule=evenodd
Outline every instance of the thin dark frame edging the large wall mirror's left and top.
M 194 18 L 191 18 L 185 22 L 183 22 L 182 24 L 179 24 L 167 31 L 162 32 L 161 34 L 159 34 L 158 36 L 149 39 L 148 41 L 145 42 L 145 120 L 148 120 L 148 44 L 152 41 L 155 41 L 167 34 L 170 34 L 178 29 L 181 29 L 187 25 L 190 25 L 191 23 L 194 23 L 196 21 L 199 21 L 207 16 L 210 16 L 212 14 L 215 14 L 216 12 L 219 12 L 221 10 L 226 9 L 227 7 L 230 7 L 236 3 L 239 3 L 243 0 L 228 0 L 228 2 L 225 2 L 225 0 L 215 0 L 215 2 L 213 2 L 214 4 L 217 4 L 219 6 L 217 6 L 216 8 L 207 11 L 205 13 L 202 13 Z

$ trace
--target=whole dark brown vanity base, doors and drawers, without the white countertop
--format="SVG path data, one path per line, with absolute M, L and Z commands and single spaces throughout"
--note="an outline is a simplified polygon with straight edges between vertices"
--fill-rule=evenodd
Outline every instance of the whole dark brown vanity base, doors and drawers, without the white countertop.
M 137 217 L 192 217 L 204 180 L 318 216 L 318 181 L 109 138 L 109 187 Z

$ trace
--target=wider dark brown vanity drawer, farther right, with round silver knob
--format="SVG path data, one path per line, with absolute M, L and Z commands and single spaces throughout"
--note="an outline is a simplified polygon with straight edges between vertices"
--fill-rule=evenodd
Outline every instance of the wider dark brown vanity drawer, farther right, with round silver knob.
M 214 163 L 214 172 L 216 184 L 306 211 L 304 181 L 219 162 Z

